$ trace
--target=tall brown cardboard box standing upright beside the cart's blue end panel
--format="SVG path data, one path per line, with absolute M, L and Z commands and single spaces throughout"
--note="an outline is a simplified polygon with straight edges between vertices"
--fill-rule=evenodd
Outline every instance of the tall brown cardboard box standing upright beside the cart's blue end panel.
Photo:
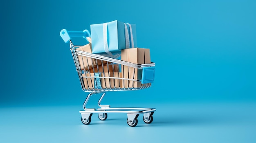
M 150 51 L 148 48 L 127 48 L 121 50 L 121 60 L 134 64 L 150 64 Z M 142 69 L 121 66 L 124 78 L 141 79 Z M 124 88 L 140 88 L 146 86 L 139 81 L 123 80 Z

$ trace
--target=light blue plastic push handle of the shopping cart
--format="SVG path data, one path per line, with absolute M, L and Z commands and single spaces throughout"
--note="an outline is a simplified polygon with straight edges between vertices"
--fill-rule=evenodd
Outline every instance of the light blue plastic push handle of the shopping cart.
M 83 37 L 85 39 L 86 37 L 91 37 L 90 32 L 86 29 L 84 31 L 67 31 L 66 29 L 62 29 L 60 35 L 65 43 L 71 40 L 72 37 Z

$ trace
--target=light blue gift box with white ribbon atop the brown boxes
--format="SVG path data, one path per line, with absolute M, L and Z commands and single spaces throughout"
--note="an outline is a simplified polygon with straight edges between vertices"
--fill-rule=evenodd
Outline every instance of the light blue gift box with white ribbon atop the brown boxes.
M 137 47 L 136 26 L 120 21 L 91 25 L 92 53 L 108 57 L 121 53 L 122 49 Z M 119 54 L 120 55 L 120 54 Z

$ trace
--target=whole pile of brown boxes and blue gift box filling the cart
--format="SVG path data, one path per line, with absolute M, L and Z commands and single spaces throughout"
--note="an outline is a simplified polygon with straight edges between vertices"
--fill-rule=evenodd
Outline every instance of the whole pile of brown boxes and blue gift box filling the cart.
M 87 38 L 89 44 L 76 50 L 112 58 L 116 58 L 113 55 L 120 56 L 121 53 L 122 61 L 134 64 L 151 63 L 149 49 L 134 48 L 137 47 L 135 24 L 126 24 L 117 20 L 104 24 L 92 24 L 91 33 L 92 39 Z M 78 59 L 87 90 L 142 88 L 151 84 L 141 84 L 141 81 L 136 81 L 142 78 L 142 69 L 120 66 L 113 62 L 81 55 L 78 55 Z

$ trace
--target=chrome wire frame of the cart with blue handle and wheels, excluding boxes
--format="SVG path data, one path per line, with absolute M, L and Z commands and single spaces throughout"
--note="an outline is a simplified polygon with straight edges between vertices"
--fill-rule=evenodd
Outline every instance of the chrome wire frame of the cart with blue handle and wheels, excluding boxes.
M 88 53 L 88 52 L 84 52 L 84 51 L 79 51 L 76 50 L 76 48 L 81 47 L 81 46 L 75 46 L 72 41 L 71 38 L 72 37 L 83 37 L 86 39 L 86 37 L 90 37 L 90 33 L 88 30 L 84 30 L 84 31 L 67 31 L 66 29 L 63 29 L 60 32 L 61 37 L 63 38 L 64 42 L 70 42 L 70 51 L 72 53 L 72 57 L 74 60 L 74 64 L 76 66 L 76 71 L 79 75 L 79 79 L 80 79 L 80 83 L 81 83 L 81 88 L 83 89 L 84 92 L 90 92 L 90 94 L 86 97 L 84 103 L 83 103 L 83 111 L 79 111 L 81 113 L 81 121 L 83 124 L 88 125 L 91 122 L 91 116 L 93 113 L 98 113 L 98 117 L 100 120 L 106 120 L 108 115 L 107 113 L 126 113 L 127 114 L 127 123 L 128 125 L 135 127 L 138 123 L 137 117 L 139 116 L 139 114 L 143 114 L 143 120 L 145 123 L 151 123 L 153 121 L 153 113 L 156 111 L 155 108 L 110 108 L 110 105 L 101 105 L 101 101 L 103 99 L 103 97 L 106 95 L 106 92 L 109 91 L 126 91 L 126 90 L 140 90 L 140 89 L 144 89 L 144 88 L 149 88 L 151 86 L 151 82 L 153 82 L 154 80 L 154 74 L 155 74 L 155 63 L 151 62 L 151 64 L 133 64 L 130 62 L 125 62 L 119 59 L 113 59 L 110 57 L 105 57 L 102 55 L 97 55 L 97 54 L 92 54 L 92 53 Z M 83 68 L 82 70 L 82 66 L 81 66 L 81 61 L 79 62 L 79 58 L 78 56 L 81 57 L 85 57 L 87 59 L 87 63 L 88 63 L 88 58 L 89 59 L 95 59 L 96 60 L 96 66 L 97 69 L 99 69 L 99 65 L 97 63 L 97 60 L 100 60 L 102 62 L 103 65 L 103 61 L 107 63 L 107 65 L 113 65 L 113 64 L 117 64 L 118 66 L 118 73 L 120 71 L 120 66 L 128 66 L 128 68 L 137 68 L 137 69 L 141 69 L 142 70 L 142 77 L 141 79 L 134 79 L 131 78 L 123 78 L 123 77 L 105 77 L 105 75 L 103 77 L 99 77 L 99 76 L 83 76 L 83 73 L 87 72 L 90 75 L 90 70 L 89 70 L 89 66 L 88 66 L 88 70 L 85 70 L 85 68 Z M 111 64 L 109 64 L 111 63 Z M 84 63 L 82 63 L 84 64 Z M 101 64 L 101 63 L 100 63 Z M 89 65 L 89 64 L 88 64 Z M 119 66 L 120 65 L 120 66 Z M 107 66 L 107 67 L 108 67 Z M 94 71 L 94 66 L 92 66 L 92 70 Z M 95 67 L 96 68 L 96 67 Z M 97 71 L 97 70 L 96 70 Z M 149 79 L 145 79 L 148 78 L 144 75 L 146 75 L 146 73 L 150 71 L 149 73 L 151 74 L 153 71 L 153 80 L 152 80 L 152 76 L 149 77 Z M 96 72 L 99 73 L 99 70 Z M 104 73 L 104 72 L 103 72 Z M 110 73 L 110 70 L 108 68 L 108 73 Z M 150 75 L 147 73 L 147 75 Z M 129 75 L 129 73 L 128 73 Z M 120 86 L 120 82 L 119 85 L 117 85 L 118 88 L 116 88 L 115 86 L 115 82 L 114 82 L 114 87 L 112 88 L 111 86 L 109 88 L 102 88 L 102 87 L 98 87 L 95 86 L 93 88 L 86 88 L 85 87 L 85 81 L 84 79 L 86 79 L 87 83 L 88 80 L 87 78 L 101 78 L 101 79 L 113 79 L 113 80 L 123 80 L 123 81 L 128 81 L 132 82 L 132 87 L 128 86 L 128 87 L 122 87 Z M 134 87 L 134 81 L 137 82 L 141 82 L 141 87 Z M 91 81 L 92 82 L 92 81 Z M 92 83 L 93 84 L 93 83 Z M 96 94 L 102 94 L 99 101 L 98 101 L 98 106 L 100 108 L 86 108 L 86 104 L 88 103 L 90 97 L 92 95 L 96 95 Z

